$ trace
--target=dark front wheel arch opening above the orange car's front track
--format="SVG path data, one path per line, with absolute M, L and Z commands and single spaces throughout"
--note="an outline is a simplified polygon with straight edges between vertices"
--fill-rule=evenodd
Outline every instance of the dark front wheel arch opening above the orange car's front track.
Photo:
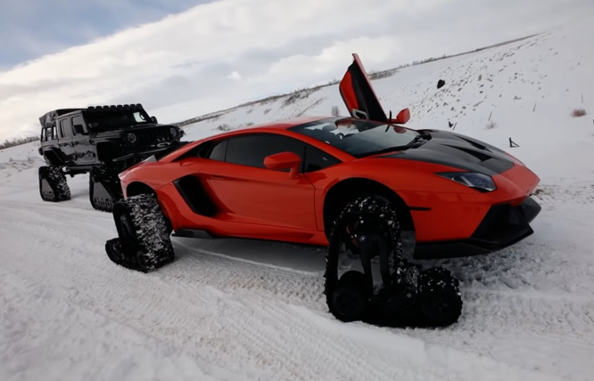
M 404 231 L 415 230 L 410 210 L 398 193 L 381 182 L 358 177 L 337 182 L 327 191 L 324 198 L 324 231 L 326 231 L 326 236 L 332 230 L 334 220 L 347 204 L 361 196 L 369 195 L 377 195 L 388 199 L 398 213 L 401 229 Z

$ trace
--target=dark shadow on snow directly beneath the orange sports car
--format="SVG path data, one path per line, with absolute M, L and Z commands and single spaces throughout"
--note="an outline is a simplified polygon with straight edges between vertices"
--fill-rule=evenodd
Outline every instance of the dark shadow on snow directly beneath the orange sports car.
M 460 258 L 413 260 L 414 233 L 403 232 L 404 256 L 424 268 L 442 266 L 461 281 L 460 288 L 480 287 L 495 289 L 530 288 L 532 283 L 525 276 L 526 272 L 539 272 L 539 267 L 548 261 L 543 255 L 550 247 L 541 245 L 535 238 L 528 238 L 513 247 L 507 247 L 488 255 L 476 255 Z M 322 275 L 326 266 L 326 249 L 321 247 L 303 247 L 282 242 L 261 241 L 257 239 L 184 239 L 173 238 L 174 245 L 190 249 L 181 252 L 184 255 L 207 253 L 237 261 L 252 263 L 284 270 L 286 272 L 309 273 L 317 275 L 323 282 Z

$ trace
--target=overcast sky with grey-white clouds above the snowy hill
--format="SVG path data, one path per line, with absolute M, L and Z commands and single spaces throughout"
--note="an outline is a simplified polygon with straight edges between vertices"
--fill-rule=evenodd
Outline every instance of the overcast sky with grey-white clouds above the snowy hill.
M 373 4 L 373 5 L 372 5 Z M 594 16 L 592 0 L 0 0 L 0 141 L 59 108 L 177 122 Z

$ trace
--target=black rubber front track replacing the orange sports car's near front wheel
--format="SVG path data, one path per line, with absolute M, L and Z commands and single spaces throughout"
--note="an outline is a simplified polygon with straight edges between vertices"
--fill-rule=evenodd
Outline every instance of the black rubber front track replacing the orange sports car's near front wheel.
M 344 239 L 351 239 L 346 233 L 347 227 L 353 220 L 359 218 L 364 218 L 366 224 L 374 219 L 381 222 L 379 225 L 381 229 L 375 231 L 374 234 L 386 242 L 384 253 L 387 253 L 390 275 L 389 278 L 384 278 L 385 274 L 383 275 L 383 287 L 376 295 L 375 290 L 364 291 L 366 302 L 363 302 L 360 293 L 356 292 L 348 296 L 347 304 L 355 305 L 352 307 L 355 310 L 350 311 L 358 311 L 355 315 L 360 316 L 360 319 L 356 320 L 377 326 L 425 328 L 448 326 L 458 321 L 462 310 L 458 280 L 446 269 L 431 268 L 422 271 L 421 266 L 408 263 L 402 257 L 400 223 L 396 211 L 384 199 L 374 196 L 363 197 L 351 202 L 334 222 L 326 252 L 326 272 L 324 274 L 324 294 L 330 312 L 339 320 L 343 320 L 344 316 L 348 317 L 348 315 L 336 313 L 337 310 L 334 310 L 336 307 L 333 304 L 339 303 L 339 299 L 333 299 L 333 294 L 334 292 L 349 294 L 351 291 L 344 291 L 345 287 L 350 289 L 355 287 L 354 283 L 344 285 L 342 283 L 344 276 L 339 280 L 338 263 L 342 242 Z M 367 232 L 369 230 L 367 228 Z M 360 238 L 362 239 L 363 236 Z M 359 247 L 362 250 L 362 240 L 359 241 Z M 360 258 L 365 268 L 365 254 L 360 251 L 359 255 L 361 255 Z M 382 263 L 383 255 L 380 255 L 380 263 Z M 357 280 L 358 277 L 355 275 L 356 273 L 351 273 L 351 279 Z M 360 272 L 359 275 L 359 284 L 364 282 L 368 287 L 369 284 L 366 283 L 365 277 Z M 387 280 L 389 284 L 384 280 Z M 342 297 L 339 295 L 336 294 L 335 297 Z M 365 305 L 364 310 L 360 308 L 362 303 Z M 441 304 L 447 305 L 447 307 L 442 308 Z M 365 312 L 360 314 L 362 311 Z M 351 315 L 351 318 L 355 315 Z

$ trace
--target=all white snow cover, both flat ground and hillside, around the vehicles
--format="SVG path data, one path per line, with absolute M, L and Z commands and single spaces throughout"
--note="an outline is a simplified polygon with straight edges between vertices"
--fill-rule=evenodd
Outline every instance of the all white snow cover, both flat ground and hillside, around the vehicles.
M 0 150 L 0 380 L 594 379 L 593 35 L 568 26 L 373 83 L 385 109 L 411 109 L 408 126 L 451 121 L 504 149 L 511 137 L 542 179 L 532 237 L 435 261 L 462 280 L 449 328 L 335 320 L 322 250 L 174 239 L 175 263 L 128 271 L 104 253 L 116 230 L 90 207 L 86 175 L 69 178 L 70 201 L 45 203 L 37 143 Z M 188 126 L 187 137 L 333 105 L 346 115 L 336 86 L 285 101 Z M 572 118 L 575 108 L 590 114 Z

